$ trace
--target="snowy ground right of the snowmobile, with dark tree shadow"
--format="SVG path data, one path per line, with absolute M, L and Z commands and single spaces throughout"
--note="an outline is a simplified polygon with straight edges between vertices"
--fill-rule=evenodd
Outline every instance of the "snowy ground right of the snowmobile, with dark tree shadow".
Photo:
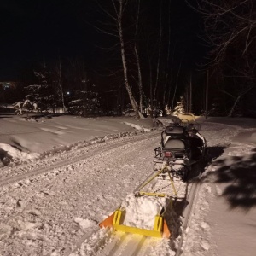
M 201 176 L 183 255 L 254 255 L 256 120 L 210 118 L 202 130 L 216 158 Z

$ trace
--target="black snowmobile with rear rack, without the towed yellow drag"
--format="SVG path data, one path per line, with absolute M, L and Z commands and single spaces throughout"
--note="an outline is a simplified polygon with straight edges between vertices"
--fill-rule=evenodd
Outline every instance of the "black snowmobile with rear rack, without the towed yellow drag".
M 154 149 L 154 171 L 159 171 L 166 166 L 166 172 L 160 177 L 165 179 L 167 172 L 172 177 L 181 177 L 188 180 L 190 171 L 207 154 L 207 141 L 199 133 L 201 125 L 189 123 L 187 119 L 166 126 L 161 132 L 160 147 Z

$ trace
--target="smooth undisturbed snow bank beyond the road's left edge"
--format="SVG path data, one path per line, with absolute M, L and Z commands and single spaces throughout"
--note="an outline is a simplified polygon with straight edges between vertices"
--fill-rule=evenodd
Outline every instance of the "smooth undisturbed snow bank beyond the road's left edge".
M 0 119 L 0 166 L 12 160 L 32 160 L 38 154 L 61 151 L 79 145 L 106 141 L 118 137 L 151 131 L 153 119 L 80 118 L 53 116 L 49 119 L 34 116 L 33 122 L 11 115 Z M 1 150 L 2 148 L 2 150 Z

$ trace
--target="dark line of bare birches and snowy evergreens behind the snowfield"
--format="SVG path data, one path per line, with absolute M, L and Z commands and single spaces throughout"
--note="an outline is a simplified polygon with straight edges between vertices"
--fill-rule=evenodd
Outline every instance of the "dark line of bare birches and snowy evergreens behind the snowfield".
M 252 0 L 94 3 L 97 19 L 88 23 L 96 32 L 100 63 L 90 67 L 84 56 L 60 55 L 33 68 L 33 79 L 21 79 L 19 94 L 23 103 L 31 102 L 29 108 L 84 116 L 133 111 L 143 118 L 173 113 L 182 97 L 190 113 L 204 114 L 208 107 L 210 115 L 254 114 Z M 195 45 L 198 36 L 207 46 Z

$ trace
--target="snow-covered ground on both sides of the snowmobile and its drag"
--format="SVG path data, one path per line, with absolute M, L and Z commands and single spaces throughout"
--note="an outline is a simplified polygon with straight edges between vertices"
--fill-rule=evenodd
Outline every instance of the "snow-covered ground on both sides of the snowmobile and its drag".
M 183 255 L 254 255 L 256 121 L 199 121 L 214 159 L 183 230 Z M 152 119 L 0 115 L 0 183 L 25 175 L 0 189 L 0 255 L 96 255 L 109 238 L 98 223 L 153 171 L 160 143 L 154 125 Z M 51 169 L 58 161 L 65 165 Z M 43 169 L 49 172 L 31 175 Z M 163 240 L 150 255 L 174 255 L 174 249 Z

